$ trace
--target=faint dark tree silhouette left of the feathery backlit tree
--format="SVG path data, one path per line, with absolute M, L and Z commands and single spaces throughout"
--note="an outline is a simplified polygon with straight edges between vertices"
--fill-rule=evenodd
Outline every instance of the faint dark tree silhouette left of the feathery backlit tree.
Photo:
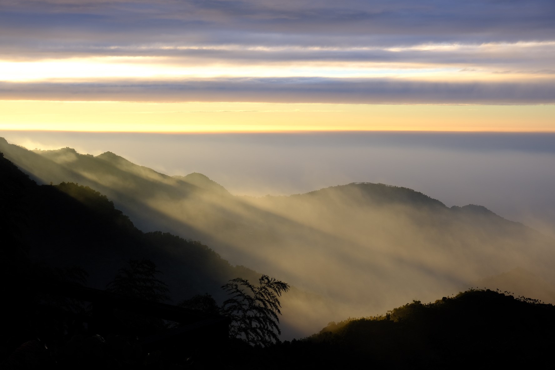
M 108 283 L 107 291 L 148 301 L 169 300 L 168 286 L 156 278 L 162 272 L 156 269 L 153 261 L 129 260 L 128 263 L 129 266 L 120 268 L 114 280 Z

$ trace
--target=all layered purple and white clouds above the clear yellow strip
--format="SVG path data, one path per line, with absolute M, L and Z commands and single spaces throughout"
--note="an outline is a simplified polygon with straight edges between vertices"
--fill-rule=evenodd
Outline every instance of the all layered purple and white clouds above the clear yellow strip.
M 555 103 L 550 0 L 0 6 L 3 99 Z

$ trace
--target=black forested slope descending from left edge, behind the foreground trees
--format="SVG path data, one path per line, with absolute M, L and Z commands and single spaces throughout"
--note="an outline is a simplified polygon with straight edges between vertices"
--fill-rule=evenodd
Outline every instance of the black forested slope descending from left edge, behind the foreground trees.
M 3 155 L 0 170 L 6 267 L 28 263 L 27 256 L 50 266 L 80 266 L 89 272 L 90 285 L 102 289 L 129 259 L 149 258 L 164 272 L 178 301 L 205 292 L 223 296 L 220 286 L 237 273 L 255 276 L 200 242 L 162 232 L 144 234 L 88 186 L 39 186 Z

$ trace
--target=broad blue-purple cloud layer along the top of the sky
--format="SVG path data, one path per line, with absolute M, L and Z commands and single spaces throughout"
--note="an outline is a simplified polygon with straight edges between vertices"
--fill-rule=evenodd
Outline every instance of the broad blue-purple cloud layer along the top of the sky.
M 1 1 L 2 43 L 411 45 L 550 40 L 555 3 L 408 0 Z M 6 35 L 9 35 L 6 36 Z

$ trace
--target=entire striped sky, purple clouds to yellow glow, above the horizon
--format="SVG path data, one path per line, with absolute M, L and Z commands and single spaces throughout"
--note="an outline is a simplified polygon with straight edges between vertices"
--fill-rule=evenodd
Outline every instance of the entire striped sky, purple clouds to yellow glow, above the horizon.
M 552 0 L 0 9 L 0 130 L 555 131 Z

